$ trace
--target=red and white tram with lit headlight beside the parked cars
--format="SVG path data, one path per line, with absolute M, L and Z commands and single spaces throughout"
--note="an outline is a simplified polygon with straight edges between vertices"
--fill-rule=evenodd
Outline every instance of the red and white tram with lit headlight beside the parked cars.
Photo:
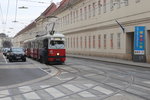
M 26 55 L 42 63 L 64 63 L 66 60 L 65 36 L 60 33 L 37 36 L 24 42 Z

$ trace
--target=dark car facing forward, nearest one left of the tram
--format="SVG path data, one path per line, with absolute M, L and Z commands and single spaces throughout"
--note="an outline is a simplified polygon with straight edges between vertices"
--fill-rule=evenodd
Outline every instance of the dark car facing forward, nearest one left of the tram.
M 26 55 L 23 48 L 10 48 L 8 59 L 10 62 L 14 60 L 26 61 Z

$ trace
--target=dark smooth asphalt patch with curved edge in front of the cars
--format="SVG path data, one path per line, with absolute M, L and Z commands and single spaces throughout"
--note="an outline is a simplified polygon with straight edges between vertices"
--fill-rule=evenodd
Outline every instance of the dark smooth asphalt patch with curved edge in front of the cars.
M 3 55 L 0 56 L 0 87 L 15 85 L 35 80 L 47 75 L 32 62 L 9 62 Z

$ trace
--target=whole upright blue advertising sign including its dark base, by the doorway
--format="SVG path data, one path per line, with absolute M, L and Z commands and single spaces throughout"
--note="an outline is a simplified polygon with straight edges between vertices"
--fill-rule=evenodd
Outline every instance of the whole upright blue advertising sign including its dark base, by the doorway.
M 135 26 L 133 61 L 146 62 L 145 26 Z

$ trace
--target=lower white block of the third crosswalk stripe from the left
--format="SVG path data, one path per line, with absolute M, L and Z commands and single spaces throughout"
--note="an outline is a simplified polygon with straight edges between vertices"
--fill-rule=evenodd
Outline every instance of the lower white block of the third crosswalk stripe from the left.
M 65 96 L 64 93 L 60 92 L 59 90 L 55 88 L 48 88 L 48 89 L 45 89 L 45 91 L 48 92 L 50 95 L 52 95 L 54 98 Z

